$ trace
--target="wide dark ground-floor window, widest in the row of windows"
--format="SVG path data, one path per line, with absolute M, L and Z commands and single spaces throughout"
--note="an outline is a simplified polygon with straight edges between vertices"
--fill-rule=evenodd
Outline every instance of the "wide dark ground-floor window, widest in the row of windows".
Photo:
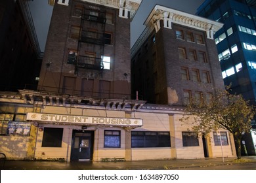
M 132 131 L 132 148 L 170 147 L 170 133 L 165 131 Z

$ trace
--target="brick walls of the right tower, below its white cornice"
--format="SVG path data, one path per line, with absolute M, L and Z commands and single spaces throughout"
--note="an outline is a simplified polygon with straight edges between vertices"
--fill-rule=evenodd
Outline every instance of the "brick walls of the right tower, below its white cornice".
M 177 39 L 176 30 L 182 31 L 184 37 Z M 194 41 L 188 41 L 188 33 Z M 196 41 L 196 36 L 203 38 L 203 44 Z M 155 37 L 155 42 L 152 42 Z M 186 58 L 179 58 L 179 48 L 184 49 Z M 195 53 L 195 60 L 190 58 Z M 205 60 L 200 60 L 205 54 Z M 207 39 L 205 31 L 173 24 L 172 29 L 163 27 L 155 31 L 142 44 L 131 59 L 132 92 L 139 91 L 139 96 L 148 103 L 184 105 L 184 91 L 195 93 L 213 93 L 215 88 L 224 88 L 221 67 L 217 58 L 217 49 L 213 39 Z M 181 69 L 188 71 L 188 79 L 182 80 Z M 198 81 L 193 80 L 192 72 L 198 72 Z M 203 76 L 209 76 L 209 82 Z

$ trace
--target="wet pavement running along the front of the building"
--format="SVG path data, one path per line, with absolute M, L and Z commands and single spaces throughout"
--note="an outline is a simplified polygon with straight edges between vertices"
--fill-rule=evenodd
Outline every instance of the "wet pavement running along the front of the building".
M 5 170 L 164 170 L 186 169 L 189 167 L 209 167 L 231 165 L 234 163 L 255 163 L 256 156 L 244 156 L 237 161 L 236 158 L 205 158 L 205 159 L 171 159 L 155 161 L 117 161 L 117 162 L 66 162 L 66 161 L 22 161 L 7 160 Z

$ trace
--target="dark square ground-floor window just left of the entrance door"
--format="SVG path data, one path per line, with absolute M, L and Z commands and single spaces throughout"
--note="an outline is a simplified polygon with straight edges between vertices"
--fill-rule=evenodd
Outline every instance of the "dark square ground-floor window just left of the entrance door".
M 44 127 L 42 147 L 61 147 L 63 128 Z

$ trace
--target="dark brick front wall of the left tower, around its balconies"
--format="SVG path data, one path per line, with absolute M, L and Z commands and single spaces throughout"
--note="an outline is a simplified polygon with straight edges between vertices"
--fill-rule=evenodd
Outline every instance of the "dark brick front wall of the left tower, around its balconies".
M 75 8 L 106 12 L 112 22 L 106 24 L 84 21 L 75 16 Z M 106 17 L 106 18 L 108 18 Z M 72 37 L 72 27 L 83 27 L 97 33 L 111 35 L 111 44 L 78 42 Z M 69 1 L 68 6 L 55 3 L 49 35 L 45 47 L 39 90 L 47 90 L 85 97 L 130 98 L 130 19 L 119 18 L 119 9 Z M 79 55 L 95 53 L 110 56 L 110 69 L 76 68 L 68 63 L 69 50 L 78 50 Z M 68 91 L 68 92 L 67 92 Z

